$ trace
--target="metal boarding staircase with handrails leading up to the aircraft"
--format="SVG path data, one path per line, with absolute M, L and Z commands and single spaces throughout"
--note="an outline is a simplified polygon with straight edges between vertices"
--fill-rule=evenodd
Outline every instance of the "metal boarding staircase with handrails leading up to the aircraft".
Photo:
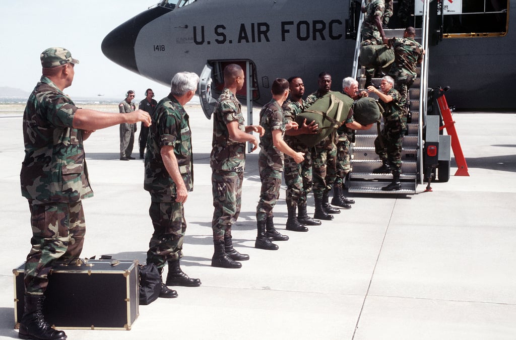
M 373 170 L 381 167 L 382 163 L 375 153 L 374 141 L 377 137 L 377 128 L 374 126 L 369 130 L 357 131 L 355 142 L 351 144 L 351 171 L 348 175 L 346 186 L 349 192 L 364 193 L 405 193 L 413 194 L 418 184 L 423 183 L 423 124 L 426 118 L 427 101 L 427 79 L 428 79 L 428 1 L 425 1 L 423 13 L 423 24 L 416 28 L 416 41 L 423 45 L 427 53 L 421 67 L 417 69 L 417 78 L 409 89 L 410 117 L 408 119 L 408 132 L 403 139 L 401 150 L 401 189 L 396 191 L 382 191 L 381 188 L 392 182 L 392 174 L 374 173 Z M 359 81 L 359 88 L 364 89 L 365 75 L 364 68 L 359 66 L 360 58 L 360 35 L 363 14 L 358 25 L 358 37 L 356 51 L 353 60 L 353 77 Z M 388 38 L 402 37 L 404 29 L 385 29 Z M 384 70 L 388 73 L 388 70 Z M 381 78 L 373 78 L 374 86 L 380 86 Z M 378 99 L 374 94 L 369 93 L 372 98 Z M 381 121 L 383 128 L 383 120 Z

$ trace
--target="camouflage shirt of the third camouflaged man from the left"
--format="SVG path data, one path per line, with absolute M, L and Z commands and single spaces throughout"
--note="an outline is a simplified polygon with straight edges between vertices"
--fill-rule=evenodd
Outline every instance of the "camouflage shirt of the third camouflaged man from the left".
M 246 143 L 229 138 L 227 124 L 233 121 L 238 122 L 241 131 L 246 131 L 240 102 L 233 92 L 224 88 L 213 110 L 212 153 L 209 164 L 214 170 L 244 171 Z

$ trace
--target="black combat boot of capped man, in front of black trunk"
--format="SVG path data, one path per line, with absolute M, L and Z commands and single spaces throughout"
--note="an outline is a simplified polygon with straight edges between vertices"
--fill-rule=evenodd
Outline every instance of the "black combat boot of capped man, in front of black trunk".
M 64 340 L 65 332 L 50 327 L 43 318 L 44 295 L 25 294 L 25 310 L 20 320 L 18 337 L 21 339 Z

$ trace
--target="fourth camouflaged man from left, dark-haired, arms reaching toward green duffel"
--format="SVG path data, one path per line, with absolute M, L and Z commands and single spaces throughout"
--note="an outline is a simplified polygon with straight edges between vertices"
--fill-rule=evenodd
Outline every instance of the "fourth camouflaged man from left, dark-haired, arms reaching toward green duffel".
M 260 126 L 264 134 L 260 137 L 260 156 L 258 166 L 262 189 L 256 206 L 256 225 L 258 235 L 255 248 L 277 250 L 269 237 L 277 241 L 286 241 L 288 236 L 281 235 L 274 227 L 272 209 L 280 196 L 281 173 L 283 172 L 283 154 L 291 156 L 296 164 L 303 161 L 304 153 L 292 150 L 283 140 L 286 129 L 297 129 L 296 122 L 285 124 L 281 105 L 288 97 L 288 81 L 277 78 L 272 83 L 272 100 L 260 111 Z M 292 218 L 292 216 L 289 216 Z M 295 217 L 294 217 L 295 219 Z M 297 221 L 297 219 L 295 219 Z M 287 222 L 288 223 L 288 222 Z

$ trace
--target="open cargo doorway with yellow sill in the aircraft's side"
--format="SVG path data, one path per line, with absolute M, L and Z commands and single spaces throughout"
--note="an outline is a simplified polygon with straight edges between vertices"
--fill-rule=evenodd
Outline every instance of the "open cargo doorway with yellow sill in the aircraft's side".
M 416 1 L 415 13 L 418 11 Z M 509 13 L 508 0 L 441 0 L 444 7 L 443 38 L 505 36 Z M 441 16 L 441 8 L 438 9 Z

